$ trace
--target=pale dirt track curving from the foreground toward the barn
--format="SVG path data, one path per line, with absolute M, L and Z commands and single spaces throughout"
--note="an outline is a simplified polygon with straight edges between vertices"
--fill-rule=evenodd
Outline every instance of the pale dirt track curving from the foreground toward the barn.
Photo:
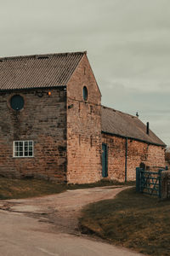
M 7 241 L 3 241 L 2 244 L 0 238 L 0 252 L 3 249 L 3 254 L 0 253 L 0 255 L 139 255 L 139 253 L 132 253 L 101 241 L 88 239 L 88 237 L 82 236 L 78 229 L 77 219 L 82 207 L 94 201 L 111 199 L 122 189 L 126 188 L 113 186 L 77 189 L 39 198 L 0 201 L 0 237 L 6 237 L 5 241 Z M 4 213 L 7 214 L 4 215 Z M 4 230 L 6 230 L 5 235 Z M 13 232 L 16 230 L 17 241 L 15 241 L 15 236 L 11 234 L 11 230 Z M 26 236 L 22 235 L 23 232 L 26 233 Z M 33 247 L 35 247 L 35 250 L 33 247 L 30 248 L 31 252 L 26 250 L 26 247 L 29 246 L 26 240 L 27 236 L 31 237 L 29 243 L 34 244 Z M 13 239 L 13 246 L 11 247 L 13 254 L 4 254 L 5 248 L 8 250 L 10 248 L 11 239 Z M 18 245 L 15 248 L 16 254 L 14 254 L 14 242 Z M 37 248 L 41 249 L 38 251 Z

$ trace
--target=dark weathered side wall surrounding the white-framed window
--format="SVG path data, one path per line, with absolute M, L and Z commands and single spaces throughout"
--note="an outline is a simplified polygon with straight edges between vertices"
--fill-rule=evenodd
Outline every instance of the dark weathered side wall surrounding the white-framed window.
M 66 180 L 66 91 L 53 89 L 38 96 L 36 90 L 0 94 L 0 175 Z M 16 112 L 10 97 L 24 97 L 25 106 Z M 14 140 L 33 140 L 34 157 L 14 158 Z

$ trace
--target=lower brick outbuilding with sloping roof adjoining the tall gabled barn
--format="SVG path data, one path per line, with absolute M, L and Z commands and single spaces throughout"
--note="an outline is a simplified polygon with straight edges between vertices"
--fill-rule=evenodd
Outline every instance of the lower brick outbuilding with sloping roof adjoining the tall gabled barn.
M 137 116 L 102 106 L 101 129 L 108 155 L 103 170 L 111 179 L 135 180 L 137 166 L 145 170 L 165 167 L 166 145 L 150 131 L 149 123 L 144 125 Z

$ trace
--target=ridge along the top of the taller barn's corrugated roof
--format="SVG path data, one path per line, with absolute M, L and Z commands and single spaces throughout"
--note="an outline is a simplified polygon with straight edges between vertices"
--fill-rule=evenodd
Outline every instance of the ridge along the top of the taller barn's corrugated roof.
M 50 56 L 57 56 L 57 55 L 87 55 L 87 50 L 85 51 L 75 51 L 75 52 L 63 52 L 63 53 L 51 53 L 51 54 L 40 54 L 40 55 L 15 55 L 15 56 L 8 56 L 8 57 L 0 57 L 0 61 L 7 61 L 7 60 L 17 60 L 17 59 L 38 59 L 38 57 L 50 57 Z

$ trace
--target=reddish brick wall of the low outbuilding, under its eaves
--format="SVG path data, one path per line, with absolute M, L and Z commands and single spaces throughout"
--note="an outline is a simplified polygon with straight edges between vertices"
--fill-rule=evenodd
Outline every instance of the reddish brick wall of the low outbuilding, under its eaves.
M 125 180 L 126 138 L 102 133 L 102 143 L 108 146 L 108 177 Z M 161 146 L 150 145 L 135 140 L 127 140 L 127 181 L 135 180 L 136 167 L 165 167 L 165 153 Z

